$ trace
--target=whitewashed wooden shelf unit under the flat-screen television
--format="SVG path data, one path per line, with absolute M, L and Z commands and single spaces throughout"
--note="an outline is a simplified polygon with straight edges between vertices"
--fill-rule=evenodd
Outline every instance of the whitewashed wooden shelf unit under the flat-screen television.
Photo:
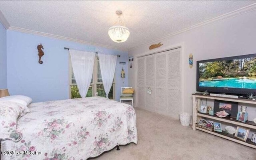
M 212 115 L 208 115 L 208 114 L 204 114 L 204 113 L 198 113 L 198 111 L 200 109 L 200 99 L 202 99 L 202 98 L 203 99 L 214 99 L 214 100 L 217 99 L 217 100 L 222 100 L 222 101 L 230 101 L 230 102 L 247 103 L 247 104 L 256 105 L 255 100 L 192 94 L 192 99 L 193 99 L 192 128 L 193 128 L 193 130 L 198 129 L 198 130 L 213 134 L 215 136 L 219 136 L 221 138 L 225 138 L 225 139 L 231 140 L 233 142 L 237 142 L 237 143 L 243 144 L 245 146 L 249 146 L 249 147 L 252 147 L 252 148 L 256 149 L 256 144 L 254 144 L 252 142 L 248 142 L 248 140 L 245 142 L 245 141 L 242 141 L 242 140 L 239 140 L 239 139 L 235 138 L 234 136 L 227 136 L 227 135 L 215 132 L 215 131 L 209 131 L 209 130 L 197 127 L 196 122 L 197 122 L 198 118 L 199 117 L 205 117 L 207 119 L 218 120 L 218 121 L 221 121 L 221 122 L 226 122 L 226 123 L 230 123 L 230 124 L 234 124 L 234 125 L 238 125 L 238 126 L 243 126 L 243 127 L 249 128 L 249 129 L 256 130 L 256 124 L 254 124 L 253 122 L 243 123 L 243 122 L 237 121 L 235 119 L 230 120 L 230 119 L 227 119 L 227 118 L 220 118 L 220 117 L 216 117 L 216 116 L 212 116 Z

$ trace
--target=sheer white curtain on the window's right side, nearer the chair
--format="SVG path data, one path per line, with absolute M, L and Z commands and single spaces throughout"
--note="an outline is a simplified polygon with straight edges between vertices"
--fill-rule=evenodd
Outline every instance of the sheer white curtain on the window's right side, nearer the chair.
M 104 90 L 106 93 L 106 98 L 108 98 L 108 93 L 111 89 L 113 83 L 113 78 L 116 70 L 116 55 L 106 55 L 98 53 L 100 61 L 100 72 L 102 77 L 102 82 Z

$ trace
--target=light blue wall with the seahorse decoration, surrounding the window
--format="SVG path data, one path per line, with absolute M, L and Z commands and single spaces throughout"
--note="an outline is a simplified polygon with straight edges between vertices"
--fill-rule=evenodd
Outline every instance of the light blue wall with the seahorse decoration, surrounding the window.
M 37 45 L 44 47 L 43 64 L 38 63 Z M 96 46 L 57 40 L 43 36 L 7 30 L 7 85 L 10 95 L 26 95 L 33 102 L 68 99 L 68 50 L 88 50 Z M 128 53 L 115 49 L 96 47 L 105 54 L 121 55 L 116 65 L 116 100 L 119 101 L 120 88 L 128 84 L 120 78 L 122 67 L 128 75 Z M 125 61 L 126 65 L 120 65 Z

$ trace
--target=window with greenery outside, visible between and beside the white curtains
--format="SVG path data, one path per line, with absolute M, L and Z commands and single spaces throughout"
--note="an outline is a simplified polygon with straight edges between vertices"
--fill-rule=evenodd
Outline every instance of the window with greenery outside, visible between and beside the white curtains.
M 69 58 L 69 77 L 70 77 L 70 89 L 69 89 L 69 98 L 81 98 L 78 87 L 76 85 L 76 79 L 74 77 L 71 60 Z M 115 76 L 114 76 L 115 77 Z M 113 81 L 112 87 L 110 89 L 110 92 L 108 93 L 109 99 L 114 99 L 114 91 L 115 91 L 115 83 Z M 95 95 L 95 93 L 98 92 L 98 96 L 106 97 L 106 93 L 104 91 L 103 83 L 102 83 L 102 77 L 100 72 L 100 61 L 98 55 L 95 56 L 94 60 L 94 67 L 93 67 L 93 73 L 92 73 L 92 80 L 90 87 L 88 89 L 88 92 L 86 94 L 86 97 L 92 97 Z

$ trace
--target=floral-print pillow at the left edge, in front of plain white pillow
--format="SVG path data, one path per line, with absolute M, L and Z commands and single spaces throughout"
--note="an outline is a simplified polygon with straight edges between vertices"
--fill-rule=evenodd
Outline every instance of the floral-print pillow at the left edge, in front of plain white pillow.
M 0 101 L 0 138 L 9 138 L 16 132 L 17 119 L 22 114 L 22 104 Z

